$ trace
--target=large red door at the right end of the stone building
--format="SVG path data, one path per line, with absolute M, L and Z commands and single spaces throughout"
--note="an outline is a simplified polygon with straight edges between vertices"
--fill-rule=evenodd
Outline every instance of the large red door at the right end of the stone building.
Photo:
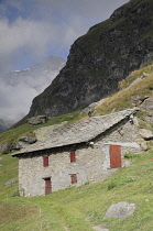
M 121 146 L 110 145 L 110 167 L 121 167 Z

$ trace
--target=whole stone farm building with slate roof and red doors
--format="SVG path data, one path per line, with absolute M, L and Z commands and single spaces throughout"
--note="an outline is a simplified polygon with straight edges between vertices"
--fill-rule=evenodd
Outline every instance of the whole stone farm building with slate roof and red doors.
M 52 132 L 13 154 L 19 157 L 21 196 L 102 180 L 127 166 L 125 153 L 141 152 L 136 109 L 88 118 Z

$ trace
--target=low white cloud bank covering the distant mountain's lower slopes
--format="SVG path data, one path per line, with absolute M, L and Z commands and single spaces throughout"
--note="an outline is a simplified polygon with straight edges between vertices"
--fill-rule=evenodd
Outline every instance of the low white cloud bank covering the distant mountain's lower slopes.
M 14 86 L 0 78 L 0 119 L 12 123 L 22 119 L 29 112 L 33 98 L 41 94 L 57 74 L 58 70 L 52 70 L 45 76 L 36 75 L 33 79 L 31 76 L 23 76 L 24 79 Z

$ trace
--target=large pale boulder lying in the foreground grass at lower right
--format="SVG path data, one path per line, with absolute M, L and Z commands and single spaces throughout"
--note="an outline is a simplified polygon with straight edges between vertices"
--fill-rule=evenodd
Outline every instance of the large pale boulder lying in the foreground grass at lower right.
M 135 205 L 134 204 L 129 204 L 127 201 L 121 201 L 118 204 L 113 204 L 109 207 L 107 210 L 107 213 L 105 215 L 105 219 L 107 218 L 120 218 L 123 220 L 130 215 L 133 215 L 135 210 Z

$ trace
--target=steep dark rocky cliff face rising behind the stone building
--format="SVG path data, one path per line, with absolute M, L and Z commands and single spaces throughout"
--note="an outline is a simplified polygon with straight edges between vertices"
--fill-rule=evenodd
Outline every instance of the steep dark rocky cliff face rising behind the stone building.
M 66 66 L 28 117 L 67 113 L 116 92 L 130 72 L 153 62 L 152 15 L 152 0 L 131 0 L 92 26 L 73 44 Z

